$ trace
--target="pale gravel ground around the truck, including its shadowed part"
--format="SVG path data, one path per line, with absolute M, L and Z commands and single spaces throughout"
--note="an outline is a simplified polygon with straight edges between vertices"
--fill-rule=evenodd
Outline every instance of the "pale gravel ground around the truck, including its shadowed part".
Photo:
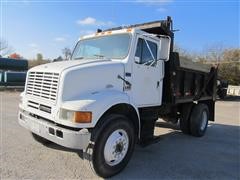
M 0 179 L 96 179 L 78 152 L 33 140 L 17 122 L 19 93 L 0 92 Z M 160 141 L 136 146 L 113 179 L 240 179 L 240 99 L 216 103 L 216 121 L 202 138 L 159 121 Z

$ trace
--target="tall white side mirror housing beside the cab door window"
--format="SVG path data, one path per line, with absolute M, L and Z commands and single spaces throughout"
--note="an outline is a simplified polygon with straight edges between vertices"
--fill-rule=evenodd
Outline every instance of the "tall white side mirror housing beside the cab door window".
M 170 55 L 171 38 L 160 36 L 159 60 L 168 61 Z

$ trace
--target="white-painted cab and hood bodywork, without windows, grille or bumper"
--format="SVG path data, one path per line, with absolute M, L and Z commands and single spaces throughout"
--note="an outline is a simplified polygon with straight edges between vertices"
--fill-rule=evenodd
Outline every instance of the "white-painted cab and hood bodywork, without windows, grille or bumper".
M 158 37 L 152 37 L 151 35 L 147 36 L 145 32 L 138 29 L 132 29 L 131 32 L 128 32 L 127 29 L 111 32 L 111 34 L 118 33 L 130 33 L 132 37 L 128 55 L 122 60 L 73 60 L 49 63 L 32 68 L 29 72 L 59 74 L 57 100 L 52 103 L 42 97 L 27 95 L 25 90 L 21 94 L 21 109 L 65 126 L 93 128 L 101 116 L 114 105 L 128 104 L 135 109 L 138 117 L 138 107 L 161 105 L 164 61 L 159 60 L 154 66 L 140 65 L 134 61 L 134 57 L 139 37 L 157 43 L 158 59 L 161 57 L 161 53 L 164 53 L 164 57 L 167 59 L 166 52 L 169 52 L 169 49 L 163 49 L 163 46 L 170 48 L 169 44 L 166 44 L 170 42 L 163 42 Z M 97 36 L 102 35 L 98 34 Z M 83 39 L 94 38 L 95 36 L 95 34 L 88 35 L 84 36 Z M 125 73 L 130 74 L 130 76 L 126 76 Z M 118 78 L 119 75 L 131 84 L 130 88 L 126 88 L 126 83 Z M 28 81 L 26 81 L 27 83 Z M 29 107 L 28 101 L 49 106 L 51 113 Z M 92 112 L 92 122 L 81 124 L 60 119 L 59 111 L 61 108 L 71 111 L 90 111 Z M 34 130 L 37 130 L 37 128 L 34 128 Z

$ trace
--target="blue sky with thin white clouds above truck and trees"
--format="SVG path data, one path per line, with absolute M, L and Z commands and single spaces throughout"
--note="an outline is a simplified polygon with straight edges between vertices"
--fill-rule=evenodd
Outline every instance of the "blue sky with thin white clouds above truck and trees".
M 166 19 L 175 42 L 191 52 L 239 48 L 239 0 L 0 0 L 0 38 L 24 58 L 54 59 L 96 29 Z

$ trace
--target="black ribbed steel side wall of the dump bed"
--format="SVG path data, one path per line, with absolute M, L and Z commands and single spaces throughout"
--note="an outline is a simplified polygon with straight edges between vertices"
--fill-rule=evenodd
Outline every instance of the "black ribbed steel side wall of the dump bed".
M 163 104 L 215 100 L 215 69 L 199 71 L 181 66 L 178 53 L 172 52 L 165 64 Z

